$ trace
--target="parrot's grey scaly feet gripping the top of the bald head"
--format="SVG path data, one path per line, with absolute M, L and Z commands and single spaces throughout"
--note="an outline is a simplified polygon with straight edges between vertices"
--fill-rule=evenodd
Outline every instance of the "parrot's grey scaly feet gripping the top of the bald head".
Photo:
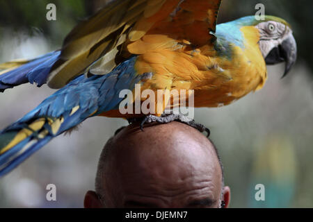
M 132 119 L 129 120 L 129 122 L 138 121 L 138 119 Z M 203 126 L 200 123 L 196 123 L 193 119 L 190 117 L 186 117 L 183 114 L 162 114 L 161 117 L 157 117 L 154 115 L 147 115 L 143 119 L 141 119 L 141 130 L 143 130 L 143 126 L 145 123 L 170 123 L 172 121 L 179 121 L 181 123 L 185 123 L 188 126 L 191 126 L 197 130 L 199 130 L 201 133 L 207 132 L 207 137 L 210 135 L 210 130 Z

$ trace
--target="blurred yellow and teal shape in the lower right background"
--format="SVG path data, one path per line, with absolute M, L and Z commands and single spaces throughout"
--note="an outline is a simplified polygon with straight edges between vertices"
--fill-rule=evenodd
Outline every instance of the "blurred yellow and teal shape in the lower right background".
M 250 180 L 251 207 L 292 207 L 296 189 L 297 155 L 289 137 L 271 135 L 255 152 Z M 264 201 L 255 199 L 255 185 L 262 181 Z M 266 196 L 266 198 L 265 198 Z

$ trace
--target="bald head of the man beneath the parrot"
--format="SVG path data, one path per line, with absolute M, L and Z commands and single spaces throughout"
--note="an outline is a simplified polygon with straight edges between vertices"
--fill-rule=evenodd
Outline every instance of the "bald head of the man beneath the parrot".
M 184 123 L 132 124 L 102 151 L 85 207 L 227 207 L 214 144 Z

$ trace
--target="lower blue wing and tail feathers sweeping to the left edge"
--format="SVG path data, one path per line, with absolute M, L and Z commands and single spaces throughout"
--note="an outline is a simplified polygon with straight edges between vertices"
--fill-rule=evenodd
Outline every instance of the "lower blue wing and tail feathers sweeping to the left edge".
M 17 167 L 29 155 L 47 144 L 50 139 L 77 126 L 88 117 L 118 108 L 118 104 L 123 99 L 119 98 L 120 90 L 132 90 L 134 85 L 141 80 L 141 76 L 136 74 L 134 69 L 134 62 L 136 62 L 136 57 L 122 62 L 111 73 L 104 76 L 86 78 L 82 75 L 75 78 L 65 87 L 45 99 L 22 119 L 2 130 L 0 132 L 0 144 L 8 144 L 4 141 L 6 137 L 1 136 L 10 133 L 17 134 L 20 130 L 28 128 L 36 119 L 47 119 L 40 130 L 33 132 L 22 142 L 0 155 L 0 176 Z M 79 109 L 71 113 L 77 105 L 79 105 Z M 53 132 L 51 124 L 58 119 L 63 119 L 63 122 L 57 132 Z M 49 133 L 45 137 L 39 138 L 38 135 L 44 130 Z M 4 138 L 3 141 L 1 141 L 1 138 Z M 0 153 L 3 148 L 0 147 Z

